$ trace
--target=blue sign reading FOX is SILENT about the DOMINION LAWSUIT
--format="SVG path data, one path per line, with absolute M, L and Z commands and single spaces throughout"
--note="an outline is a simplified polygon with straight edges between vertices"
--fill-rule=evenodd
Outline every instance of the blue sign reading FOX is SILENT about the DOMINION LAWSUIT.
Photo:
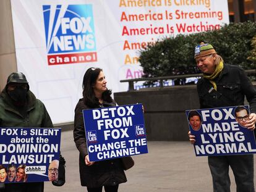
M 2 183 L 58 178 L 61 128 L 0 127 Z

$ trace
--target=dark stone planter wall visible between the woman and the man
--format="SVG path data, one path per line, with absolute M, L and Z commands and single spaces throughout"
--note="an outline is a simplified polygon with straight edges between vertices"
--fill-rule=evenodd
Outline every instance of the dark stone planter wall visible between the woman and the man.
M 199 109 L 195 85 L 114 93 L 119 105 L 142 103 L 149 141 L 187 141 L 185 111 Z

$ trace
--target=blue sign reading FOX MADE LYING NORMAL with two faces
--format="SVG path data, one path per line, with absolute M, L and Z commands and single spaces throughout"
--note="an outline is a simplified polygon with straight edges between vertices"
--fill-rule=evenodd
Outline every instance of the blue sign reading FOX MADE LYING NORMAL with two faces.
M 189 130 L 195 135 L 195 155 L 256 153 L 254 131 L 245 127 L 249 114 L 249 106 L 187 110 Z

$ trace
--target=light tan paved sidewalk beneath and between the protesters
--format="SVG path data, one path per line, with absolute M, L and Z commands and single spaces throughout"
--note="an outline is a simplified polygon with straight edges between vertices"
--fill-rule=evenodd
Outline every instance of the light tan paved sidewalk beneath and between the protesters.
M 72 131 L 64 131 L 61 152 L 66 159 L 66 184 L 61 187 L 45 183 L 45 192 L 85 192 L 80 185 L 79 152 Z M 133 156 L 135 165 L 126 171 L 127 183 L 119 185 L 120 192 L 210 192 L 211 175 L 207 157 L 195 157 L 194 148 L 184 141 L 150 141 L 148 154 Z M 236 191 L 231 173 L 231 191 Z

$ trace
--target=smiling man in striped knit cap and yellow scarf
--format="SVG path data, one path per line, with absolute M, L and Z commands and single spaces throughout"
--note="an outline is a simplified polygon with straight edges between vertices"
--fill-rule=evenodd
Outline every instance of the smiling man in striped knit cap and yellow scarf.
M 203 78 L 197 83 L 200 108 L 243 106 L 244 97 L 250 103 L 249 119 L 245 127 L 255 129 L 256 90 L 244 70 L 235 65 L 224 64 L 211 44 L 200 43 L 195 47 L 195 61 Z M 194 144 L 194 135 L 190 134 Z M 213 191 L 230 191 L 229 166 L 236 179 L 237 191 L 254 191 L 254 156 L 208 156 L 213 178 Z

